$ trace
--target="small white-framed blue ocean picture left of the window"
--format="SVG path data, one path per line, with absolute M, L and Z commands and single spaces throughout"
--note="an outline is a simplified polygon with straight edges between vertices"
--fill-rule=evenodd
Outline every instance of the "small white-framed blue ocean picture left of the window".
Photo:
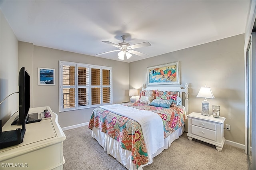
M 55 69 L 38 67 L 38 85 L 55 85 Z

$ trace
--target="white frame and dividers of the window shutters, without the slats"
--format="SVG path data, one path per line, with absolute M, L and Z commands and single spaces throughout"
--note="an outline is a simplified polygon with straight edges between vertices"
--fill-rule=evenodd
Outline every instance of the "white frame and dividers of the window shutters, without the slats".
M 63 65 L 69 65 L 75 67 L 75 85 L 63 85 Z M 87 85 L 78 85 L 78 67 L 87 67 L 88 68 L 88 84 Z M 92 85 L 92 69 L 100 69 L 100 85 Z M 109 70 L 110 71 L 110 85 L 103 85 L 103 70 Z M 112 67 L 107 66 L 101 66 L 101 65 L 91 65 L 91 64 L 85 64 L 85 63 L 75 63 L 70 61 L 59 61 L 59 112 L 65 112 L 65 111 L 74 111 L 74 110 L 80 110 L 80 109 L 87 109 L 87 108 L 93 108 L 93 107 L 99 107 L 102 105 L 112 105 L 113 104 L 113 87 L 112 87 Z M 74 87 L 75 89 L 75 107 L 70 108 L 64 108 L 63 107 L 63 89 Z M 92 87 L 98 87 L 100 88 L 100 104 L 94 104 L 92 105 Z M 110 88 L 110 102 L 109 103 L 103 103 L 103 88 L 109 87 Z M 78 89 L 79 88 L 88 88 L 88 105 L 79 106 L 78 105 Z

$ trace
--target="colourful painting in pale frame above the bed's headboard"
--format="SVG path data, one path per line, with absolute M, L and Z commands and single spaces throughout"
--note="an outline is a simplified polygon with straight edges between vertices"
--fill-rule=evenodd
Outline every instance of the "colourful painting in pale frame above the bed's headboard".
M 148 85 L 180 84 L 180 61 L 147 68 Z

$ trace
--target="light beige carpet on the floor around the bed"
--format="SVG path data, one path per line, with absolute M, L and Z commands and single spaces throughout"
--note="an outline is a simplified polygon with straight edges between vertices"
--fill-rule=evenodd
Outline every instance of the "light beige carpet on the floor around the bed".
M 64 133 L 67 137 L 63 143 L 64 170 L 126 170 L 91 137 L 88 126 Z M 143 170 L 248 170 L 244 150 L 224 144 L 219 152 L 211 144 L 189 141 L 186 134 L 184 132 Z

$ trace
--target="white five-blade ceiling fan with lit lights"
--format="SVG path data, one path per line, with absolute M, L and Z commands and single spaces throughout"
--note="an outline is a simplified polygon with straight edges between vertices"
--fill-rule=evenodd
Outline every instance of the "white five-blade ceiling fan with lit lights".
M 120 59 L 120 60 L 124 60 L 124 55 L 126 55 L 127 59 L 132 57 L 132 54 L 135 54 L 135 55 L 138 55 L 138 56 L 141 56 L 141 57 L 148 56 L 147 54 L 141 53 L 139 51 L 134 51 L 133 49 L 151 46 L 151 44 L 149 42 L 136 43 L 134 45 L 130 45 L 129 43 L 124 42 L 124 40 L 126 39 L 126 36 L 121 36 L 121 38 L 122 38 L 123 42 L 118 43 L 118 44 L 108 42 L 108 41 L 102 41 L 102 42 L 107 43 L 109 45 L 113 45 L 115 47 L 118 47 L 118 49 L 113 50 L 113 51 L 107 51 L 107 52 L 104 52 L 104 53 L 99 53 L 99 54 L 96 54 L 96 56 L 106 54 L 106 53 L 116 52 L 116 51 L 120 51 L 118 53 L 118 59 Z

